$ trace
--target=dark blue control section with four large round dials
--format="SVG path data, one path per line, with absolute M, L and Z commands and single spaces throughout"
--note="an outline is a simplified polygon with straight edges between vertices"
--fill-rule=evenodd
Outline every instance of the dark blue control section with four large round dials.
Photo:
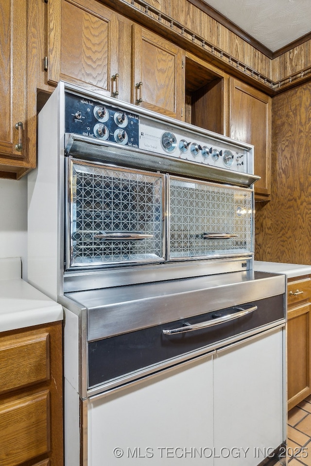
M 65 133 L 138 148 L 139 116 L 66 92 Z

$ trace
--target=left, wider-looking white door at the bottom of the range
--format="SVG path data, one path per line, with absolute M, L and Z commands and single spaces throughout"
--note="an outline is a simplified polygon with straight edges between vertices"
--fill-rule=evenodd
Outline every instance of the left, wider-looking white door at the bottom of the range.
M 206 355 L 89 399 L 87 465 L 212 466 L 212 377 Z

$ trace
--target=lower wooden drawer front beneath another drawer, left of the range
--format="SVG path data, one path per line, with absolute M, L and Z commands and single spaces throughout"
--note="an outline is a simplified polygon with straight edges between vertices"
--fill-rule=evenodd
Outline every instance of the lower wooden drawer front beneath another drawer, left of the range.
M 49 391 L 0 403 L 0 465 L 16 466 L 50 449 Z

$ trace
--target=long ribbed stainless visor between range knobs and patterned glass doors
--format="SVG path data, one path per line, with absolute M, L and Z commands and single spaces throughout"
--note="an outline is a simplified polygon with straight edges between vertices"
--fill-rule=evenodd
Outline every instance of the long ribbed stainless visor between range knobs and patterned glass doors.
M 66 134 L 66 155 L 77 158 L 91 157 L 102 162 L 122 164 L 138 169 L 155 169 L 177 175 L 186 175 L 201 180 L 232 183 L 237 186 L 250 187 L 260 179 L 257 175 L 240 173 L 222 167 L 193 163 L 170 155 L 134 149 L 132 147 L 115 147 L 112 143 L 101 140 L 89 140 L 86 136 Z

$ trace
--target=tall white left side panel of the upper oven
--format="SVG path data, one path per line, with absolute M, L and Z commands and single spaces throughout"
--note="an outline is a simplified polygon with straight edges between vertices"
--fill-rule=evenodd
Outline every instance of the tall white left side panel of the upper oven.
M 59 92 L 38 116 L 37 168 L 28 175 L 28 281 L 57 300 Z

